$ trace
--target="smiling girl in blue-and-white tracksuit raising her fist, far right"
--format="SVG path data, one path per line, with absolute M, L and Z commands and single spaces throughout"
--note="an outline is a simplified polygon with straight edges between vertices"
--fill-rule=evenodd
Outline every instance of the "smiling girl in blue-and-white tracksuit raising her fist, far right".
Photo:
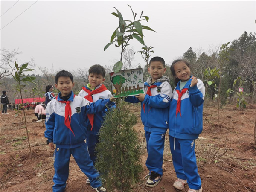
M 172 94 L 169 111 L 169 140 L 177 180 L 173 186 L 188 192 L 202 192 L 195 157 L 195 139 L 203 130 L 205 88 L 200 79 L 190 76 L 190 66 L 184 60 L 171 65 L 177 87 Z

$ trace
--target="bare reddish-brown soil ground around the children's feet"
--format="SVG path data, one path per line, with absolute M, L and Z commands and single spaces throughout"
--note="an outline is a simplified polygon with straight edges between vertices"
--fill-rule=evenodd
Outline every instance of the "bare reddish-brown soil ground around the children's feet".
M 131 105 L 139 117 L 140 107 Z M 26 111 L 29 139 L 32 145 L 30 159 L 25 124 L 14 111 L 0 117 L 0 166 L 1 191 L 3 192 L 45 192 L 52 191 L 53 151 L 45 145 L 42 122 L 35 122 L 33 111 Z M 256 145 L 253 145 L 253 129 L 256 105 L 249 105 L 244 111 L 234 106 L 220 110 L 217 123 L 217 109 L 205 108 L 204 131 L 196 140 L 198 172 L 204 192 L 256 192 Z M 148 170 L 143 125 L 134 127 L 143 143 L 143 176 Z M 134 186 L 135 192 L 177 192 L 173 187 L 176 179 L 166 134 L 163 179 L 158 186 L 148 188 L 142 183 Z M 93 192 L 85 183 L 87 177 L 81 172 L 73 158 L 70 160 L 70 175 L 65 192 Z M 247 188 L 247 189 L 246 189 Z M 188 190 L 188 186 L 183 190 Z

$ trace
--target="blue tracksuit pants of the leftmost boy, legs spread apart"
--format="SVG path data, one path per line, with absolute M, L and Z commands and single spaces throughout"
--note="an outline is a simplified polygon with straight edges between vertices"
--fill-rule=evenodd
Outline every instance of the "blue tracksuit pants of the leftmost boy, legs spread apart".
M 55 174 L 53 176 L 54 185 L 52 186 L 53 192 L 64 192 L 66 188 L 66 181 L 69 174 L 69 162 L 71 155 L 76 160 L 77 165 L 84 174 L 89 177 L 90 184 L 96 188 L 102 186 L 99 177 L 99 172 L 94 168 L 93 162 L 90 159 L 90 155 L 87 151 L 87 144 L 76 148 L 56 148 L 54 153 L 54 169 Z

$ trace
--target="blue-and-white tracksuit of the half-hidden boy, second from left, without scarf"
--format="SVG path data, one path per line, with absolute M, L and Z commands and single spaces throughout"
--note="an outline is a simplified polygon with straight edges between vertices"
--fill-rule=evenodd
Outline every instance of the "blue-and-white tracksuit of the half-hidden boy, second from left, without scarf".
M 87 86 L 84 86 L 87 90 L 92 91 L 90 88 L 88 88 Z M 98 89 L 99 87 L 101 87 L 101 84 L 98 85 L 95 89 Z M 84 98 L 85 96 L 87 96 L 88 93 L 84 90 L 81 90 L 78 94 L 78 96 Z M 104 90 L 101 93 L 96 93 L 92 95 L 93 98 L 93 102 L 98 101 L 99 99 L 109 99 L 112 97 L 112 94 L 109 90 Z M 113 103 L 113 107 L 116 107 L 116 104 Z M 107 112 L 107 109 L 99 111 L 98 113 L 94 114 L 94 120 L 93 120 L 93 129 L 92 125 L 90 124 L 90 121 L 88 119 L 87 116 L 85 116 L 85 122 L 86 122 L 86 127 L 87 127 L 87 139 L 86 139 L 86 143 L 88 145 L 88 151 L 90 154 L 90 158 L 93 161 L 93 165 L 95 165 L 95 160 L 96 160 L 96 153 L 95 153 L 95 147 L 96 144 L 99 143 L 99 130 L 102 126 L 102 122 L 103 122 L 103 117 L 105 116 Z

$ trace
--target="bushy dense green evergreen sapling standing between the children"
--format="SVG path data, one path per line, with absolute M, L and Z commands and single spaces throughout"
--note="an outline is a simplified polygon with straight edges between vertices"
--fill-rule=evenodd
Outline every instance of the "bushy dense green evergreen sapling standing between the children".
M 133 129 L 137 117 L 123 100 L 118 99 L 117 104 L 118 107 L 108 111 L 99 131 L 96 169 L 108 190 L 126 192 L 139 181 L 142 172 L 141 145 Z

